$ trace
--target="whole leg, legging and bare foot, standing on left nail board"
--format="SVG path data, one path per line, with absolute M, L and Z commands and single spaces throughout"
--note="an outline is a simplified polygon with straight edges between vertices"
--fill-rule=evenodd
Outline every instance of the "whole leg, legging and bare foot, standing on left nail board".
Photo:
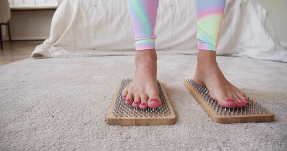
M 159 0 L 129 0 L 128 8 L 136 41 L 136 70 L 123 90 L 125 103 L 140 108 L 159 108 L 157 54 L 154 34 Z

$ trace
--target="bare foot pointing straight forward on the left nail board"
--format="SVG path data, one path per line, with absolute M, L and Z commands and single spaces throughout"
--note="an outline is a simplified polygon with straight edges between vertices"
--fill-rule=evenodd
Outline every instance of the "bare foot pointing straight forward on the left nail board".
M 132 81 L 123 90 L 126 104 L 140 108 L 159 108 L 161 99 L 157 85 L 157 54 L 155 49 L 136 51 L 136 70 Z

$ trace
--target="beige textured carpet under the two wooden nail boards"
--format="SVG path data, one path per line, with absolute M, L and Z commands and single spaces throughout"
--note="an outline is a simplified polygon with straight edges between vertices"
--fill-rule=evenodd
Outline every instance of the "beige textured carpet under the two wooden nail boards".
M 182 82 L 196 56 L 159 56 L 177 113 L 170 126 L 109 126 L 105 116 L 133 56 L 26 59 L 0 66 L 0 150 L 287 150 L 287 64 L 218 57 L 235 86 L 275 113 L 269 123 L 217 124 Z

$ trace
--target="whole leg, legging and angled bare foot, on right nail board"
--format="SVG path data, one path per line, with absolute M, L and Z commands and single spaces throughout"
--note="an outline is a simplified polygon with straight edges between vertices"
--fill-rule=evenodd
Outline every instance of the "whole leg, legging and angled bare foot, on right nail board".
M 220 106 L 246 106 L 246 95 L 234 87 L 222 74 L 216 62 L 225 0 L 195 0 L 197 10 L 198 55 L 194 81 L 208 88 L 210 96 Z

